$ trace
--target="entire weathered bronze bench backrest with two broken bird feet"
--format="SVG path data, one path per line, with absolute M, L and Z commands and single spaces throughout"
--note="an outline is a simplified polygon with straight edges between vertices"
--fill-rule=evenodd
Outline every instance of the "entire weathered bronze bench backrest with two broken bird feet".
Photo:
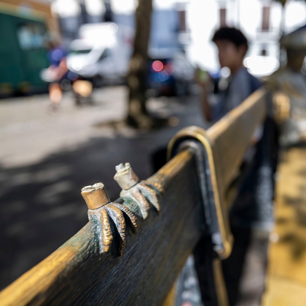
M 208 131 L 190 127 L 179 132 L 169 146 L 175 157 L 146 181 L 139 181 L 129 165 L 120 165 L 117 171 L 130 177 L 127 183 L 117 177 L 121 199 L 110 202 L 101 191 L 103 184 L 86 186 L 82 193 L 90 221 L 0 292 L 1 305 L 161 304 L 202 235 L 214 234 L 205 222 L 199 157 L 192 146 L 178 152 L 179 145 L 190 139 L 198 141 L 206 154 L 210 205 L 216 212 L 212 217 L 223 245 L 217 251 L 220 257 L 228 256 L 231 234 L 225 192 L 256 125 L 264 119 L 265 96 L 263 89 L 255 92 Z M 137 234 L 127 230 L 129 224 L 138 228 Z M 103 231 L 111 231 L 112 240 Z M 224 295 L 222 288 L 218 290 Z M 222 298 L 218 301 L 226 304 Z

